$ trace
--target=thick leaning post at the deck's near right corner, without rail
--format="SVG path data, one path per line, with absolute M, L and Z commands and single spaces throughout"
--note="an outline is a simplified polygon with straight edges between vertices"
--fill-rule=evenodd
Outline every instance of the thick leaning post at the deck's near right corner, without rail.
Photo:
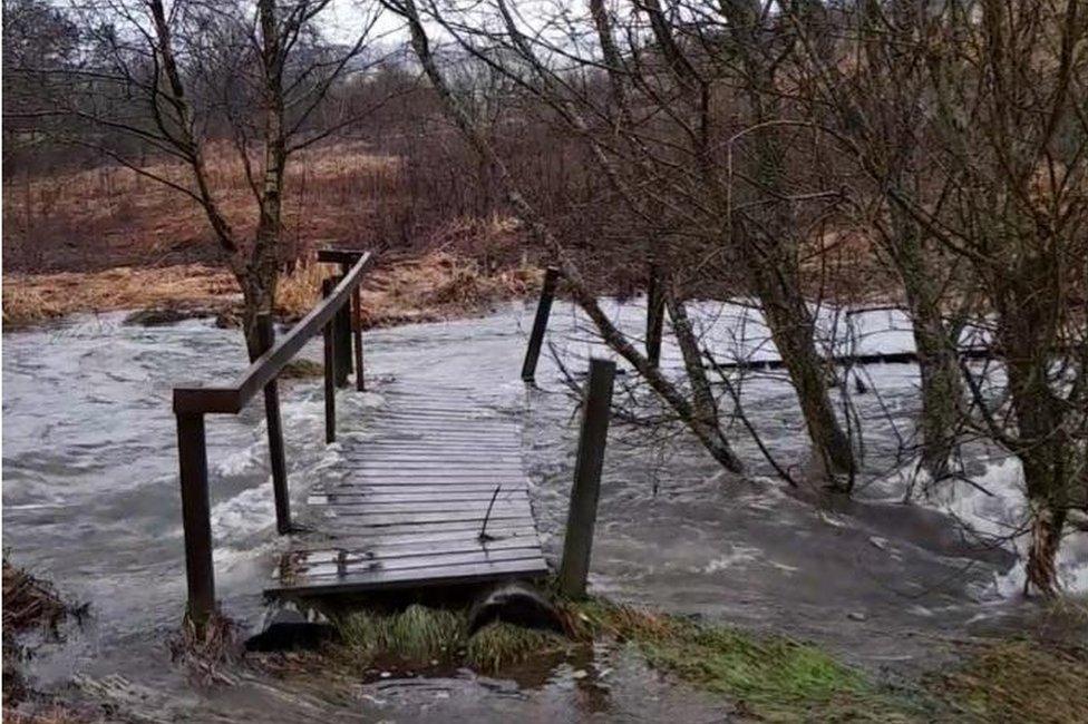
M 596 505 L 601 497 L 601 468 L 604 464 L 604 446 L 609 437 L 614 376 L 614 362 L 590 360 L 582 432 L 574 466 L 574 487 L 571 490 L 571 507 L 566 516 L 566 534 L 563 537 L 563 561 L 560 565 L 560 593 L 571 598 L 585 595 L 585 579 L 590 573 L 590 552 L 593 548 Z

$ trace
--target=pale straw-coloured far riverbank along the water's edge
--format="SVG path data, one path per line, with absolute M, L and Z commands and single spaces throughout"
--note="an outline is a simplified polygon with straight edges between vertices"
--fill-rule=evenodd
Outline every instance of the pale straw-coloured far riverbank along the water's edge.
M 309 312 L 320 296 L 321 280 L 333 270 L 310 262 L 285 275 L 278 316 L 290 322 Z M 531 266 L 489 268 L 444 251 L 394 258 L 380 263 L 362 286 L 362 323 L 372 329 L 482 314 L 499 302 L 531 294 L 541 278 L 542 272 Z M 3 276 L 3 322 L 9 327 L 117 310 L 144 311 L 143 319 L 153 323 L 214 316 L 233 325 L 240 309 L 231 274 L 204 264 Z

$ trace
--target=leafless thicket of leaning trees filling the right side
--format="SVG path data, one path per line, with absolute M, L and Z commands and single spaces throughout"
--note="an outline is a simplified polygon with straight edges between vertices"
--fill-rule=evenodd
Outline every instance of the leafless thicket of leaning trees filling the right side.
M 1085 275 L 1088 9 L 891 0 L 542 3 L 386 0 L 445 108 L 497 169 L 514 213 L 574 300 L 709 451 L 744 464 L 688 304 L 740 270 L 830 483 L 848 491 L 856 433 L 818 349 L 806 271 L 828 225 L 872 241 L 898 280 L 922 371 L 921 461 L 940 480 L 959 436 L 1016 454 L 1031 515 L 1029 583 L 1050 594 L 1065 520 L 1088 503 Z M 441 41 L 441 46 L 438 41 Z M 505 76 L 580 140 L 663 287 L 686 379 L 662 374 L 599 307 L 506 168 L 449 48 Z M 815 257 L 815 261 L 814 261 Z M 652 309 L 652 302 L 651 302 Z M 997 364 L 960 360 L 965 329 Z

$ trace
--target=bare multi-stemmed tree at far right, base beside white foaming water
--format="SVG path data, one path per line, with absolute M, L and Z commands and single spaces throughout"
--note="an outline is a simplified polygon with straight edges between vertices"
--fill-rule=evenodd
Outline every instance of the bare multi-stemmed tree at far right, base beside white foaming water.
M 982 374 L 961 365 L 970 402 L 951 397 L 968 425 L 1020 459 L 1028 585 L 1052 595 L 1065 522 L 1088 505 L 1088 59 L 1077 50 L 1088 39 L 1088 9 L 1066 0 L 870 3 L 863 22 L 861 45 L 906 52 L 867 51 L 858 76 L 868 63 L 886 67 L 881 53 L 920 65 L 915 78 L 924 88 L 898 125 L 913 127 L 911 154 L 920 149 L 931 159 L 925 183 L 902 183 L 902 169 L 881 157 L 882 121 L 859 101 L 856 79 L 843 82 L 820 62 L 825 98 L 848 120 L 834 133 L 898 219 L 893 234 L 916 327 L 935 327 L 936 314 L 924 309 L 939 299 L 926 290 L 934 263 L 952 260 L 971 272 L 961 292 L 971 302 L 965 309 L 980 310 L 971 321 L 988 332 L 1000 364 Z M 919 236 L 939 251 L 920 253 L 912 246 Z M 934 330 L 938 349 L 952 343 L 950 334 Z M 920 342 L 920 352 L 930 349 Z M 946 414 L 942 408 L 942 425 Z

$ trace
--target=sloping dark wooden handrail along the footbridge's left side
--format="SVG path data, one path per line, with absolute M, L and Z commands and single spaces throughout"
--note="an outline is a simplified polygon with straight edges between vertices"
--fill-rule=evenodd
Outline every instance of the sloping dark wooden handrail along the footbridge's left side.
M 347 254 L 347 252 L 339 252 L 339 254 Z M 373 254 L 370 252 L 351 252 L 351 254 L 354 255 L 354 263 L 332 293 L 291 327 L 291 331 L 275 346 L 254 360 L 233 385 L 174 388 L 174 412 L 191 414 L 241 412 L 265 384 L 280 374 L 284 365 L 299 353 L 310 337 L 319 333 L 351 299 L 354 287 L 362 281 L 362 275 L 373 264 Z M 326 261 L 320 254 L 318 258 Z M 336 261 L 340 262 L 341 257 Z

